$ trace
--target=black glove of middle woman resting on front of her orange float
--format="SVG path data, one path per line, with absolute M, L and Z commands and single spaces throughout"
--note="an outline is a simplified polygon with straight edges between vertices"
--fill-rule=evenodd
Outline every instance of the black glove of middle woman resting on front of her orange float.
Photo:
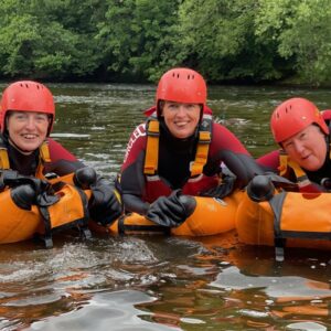
M 163 226 L 181 225 L 194 212 L 196 202 L 193 196 L 180 194 L 181 190 L 175 190 L 169 196 L 160 196 L 150 205 L 146 217 Z

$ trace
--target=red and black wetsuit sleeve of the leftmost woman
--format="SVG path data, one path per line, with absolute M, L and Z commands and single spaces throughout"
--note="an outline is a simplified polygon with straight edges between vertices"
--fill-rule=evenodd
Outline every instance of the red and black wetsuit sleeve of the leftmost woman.
M 49 139 L 51 163 L 46 163 L 46 172 L 65 175 L 84 168 L 85 164 L 76 159 L 67 149 L 53 139 Z

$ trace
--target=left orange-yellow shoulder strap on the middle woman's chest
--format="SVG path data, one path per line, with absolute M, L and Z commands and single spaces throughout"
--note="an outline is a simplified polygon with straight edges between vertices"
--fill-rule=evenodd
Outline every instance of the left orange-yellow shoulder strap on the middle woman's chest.
M 147 127 L 147 147 L 143 173 L 154 174 L 158 169 L 159 161 L 159 136 L 160 124 L 158 120 L 150 120 Z

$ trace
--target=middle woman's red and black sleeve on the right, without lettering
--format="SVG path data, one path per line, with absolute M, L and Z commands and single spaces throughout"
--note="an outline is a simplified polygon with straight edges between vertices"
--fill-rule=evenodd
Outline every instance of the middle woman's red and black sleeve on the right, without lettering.
M 213 124 L 210 158 L 212 163 L 224 162 L 236 175 L 237 186 L 245 186 L 256 174 L 265 172 L 238 138 L 220 124 Z

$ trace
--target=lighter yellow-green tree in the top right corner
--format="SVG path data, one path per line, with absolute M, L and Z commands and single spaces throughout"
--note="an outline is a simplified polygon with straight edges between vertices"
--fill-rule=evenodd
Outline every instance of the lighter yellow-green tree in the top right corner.
M 331 7 L 329 0 L 259 0 L 256 35 L 277 43 L 301 81 L 331 82 Z

